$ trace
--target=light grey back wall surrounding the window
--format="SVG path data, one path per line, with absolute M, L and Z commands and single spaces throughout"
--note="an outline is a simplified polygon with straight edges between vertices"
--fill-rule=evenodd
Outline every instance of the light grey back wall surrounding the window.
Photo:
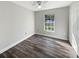
M 44 15 L 55 15 L 55 32 L 44 31 Z M 69 7 L 35 12 L 35 33 L 67 40 L 68 37 Z

